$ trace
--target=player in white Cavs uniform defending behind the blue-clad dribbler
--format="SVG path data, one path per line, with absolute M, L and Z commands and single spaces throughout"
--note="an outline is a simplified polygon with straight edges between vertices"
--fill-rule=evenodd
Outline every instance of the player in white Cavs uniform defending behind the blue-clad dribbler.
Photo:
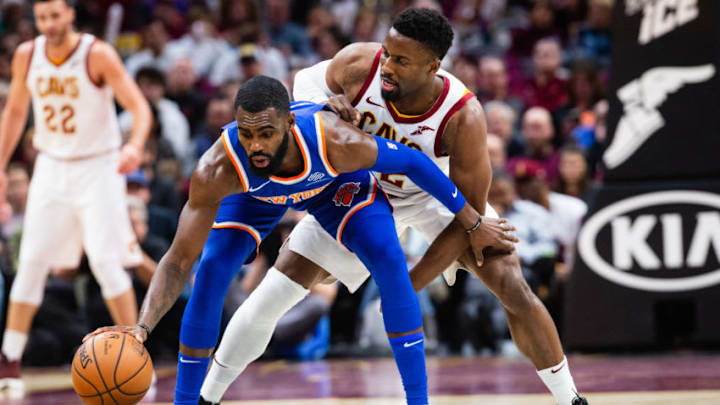
M 296 100 L 327 102 L 365 132 L 427 154 L 488 218 L 473 230 L 490 237 L 502 228 L 489 219 L 497 214 L 486 202 L 492 170 L 485 116 L 477 98 L 458 79 L 440 70 L 452 38 L 452 29 L 442 15 L 428 9 L 407 9 L 396 17 L 382 45 L 352 44 L 331 61 L 298 72 L 293 94 Z M 448 283 L 454 283 L 459 266 L 482 280 L 502 302 L 515 344 L 532 360 L 559 405 L 586 405 L 577 394 L 552 318 L 525 282 L 517 254 L 472 257 L 465 241 L 470 230 L 453 222 L 447 209 L 404 176 L 378 175 L 393 205 L 398 234 L 412 226 L 433 241 L 411 272 L 415 289 L 423 288 L 459 258 L 462 265 L 455 264 L 445 273 Z M 312 216 L 295 227 L 288 246 L 290 251 L 282 251 L 277 263 L 296 269 L 296 278 L 297 274 L 324 273 L 324 269 L 354 291 L 368 277 L 355 255 L 336 243 Z M 264 342 L 250 337 L 266 327 L 260 320 L 269 308 L 282 307 L 279 304 L 289 296 L 277 287 L 264 286 L 265 291 L 277 294 L 251 294 L 238 309 L 203 384 L 200 404 L 218 403 L 230 382 L 254 360 L 246 353 L 263 352 L 263 347 L 256 350 L 254 346 Z M 264 300 L 272 300 L 273 305 Z M 237 345 L 243 349 L 233 350 Z

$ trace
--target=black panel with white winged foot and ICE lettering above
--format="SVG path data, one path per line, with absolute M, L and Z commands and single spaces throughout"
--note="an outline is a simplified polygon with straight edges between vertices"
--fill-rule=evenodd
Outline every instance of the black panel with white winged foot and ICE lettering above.
M 720 175 L 720 1 L 618 0 L 605 181 Z

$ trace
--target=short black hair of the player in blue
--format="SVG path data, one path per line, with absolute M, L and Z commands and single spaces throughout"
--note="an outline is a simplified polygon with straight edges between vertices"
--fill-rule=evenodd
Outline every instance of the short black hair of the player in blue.
M 279 80 L 267 76 L 255 76 L 238 89 L 235 96 L 235 111 L 239 107 L 249 113 L 274 107 L 278 114 L 286 115 L 290 111 L 290 96 Z

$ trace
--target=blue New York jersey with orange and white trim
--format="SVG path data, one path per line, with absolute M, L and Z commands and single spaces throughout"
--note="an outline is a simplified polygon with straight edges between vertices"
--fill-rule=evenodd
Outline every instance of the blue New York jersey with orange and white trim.
M 237 123 L 222 129 L 225 150 L 240 177 L 245 194 L 261 201 L 289 208 L 307 209 L 308 200 L 320 194 L 337 176 L 327 158 L 322 120 L 319 112 L 323 105 L 294 102 L 290 111 L 295 113 L 292 136 L 302 154 L 304 169 L 293 177 L 283 178 L 254 176 L 248 167 L 247 154 L 238 138 Z

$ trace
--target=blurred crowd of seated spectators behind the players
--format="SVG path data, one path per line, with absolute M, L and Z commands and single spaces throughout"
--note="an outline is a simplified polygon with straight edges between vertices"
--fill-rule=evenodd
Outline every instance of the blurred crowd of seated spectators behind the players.
M 36 35 L 30 3 L 2 2 L 0 105 L 16 47 Z M 263 74 L 292 88 L 297 70 L 351 42 L 382 41 L 396 13 L 418 6 L 441 10 L 454 27 L 443 68 L 485 108 L 494 168 L 489 202 L 517 227 L 524 274 L 562 330 L 563 283 L 584 200 L 602 179 L 613 0 L 77 0 L 75 6 L 77 28 L 115 45 L 152 106 L 142 167 L 127 176 L 128 209 L 145 256 L 128 269 L 139 299 L 172 241 L 195 163 L 234 119 L 240 84 Z M 132 116 L 120 112 L 122 129 L 131 124 Z M 36 156 L 32 136 L 31 118 L 8 168 L 13 211 L 0 215 L 5 302 Z M 241 271 L 226 300 L 227 316 L 262 279 L 302 215 L 289 214 Z M 412 266 L 427 245 L 413 232 L 401 238 Z M 192 282 L 185 300 L 191 288 Z M 461 272 L 452 288 L 438 279 L 420 298 L 428 350 L 516 353 L 502 307 L 476 278 Z M 353 295 L 341 285 L 320 286 L 283 318 L 267 355 L 387 353 L 377 300 L 372 281 Z M 184 302 L 148 341 L 154 358 L 176 358 Z M 24 362 L 68 362 L 86 332 L 110 323 L 87 264 L 53 269 Z

